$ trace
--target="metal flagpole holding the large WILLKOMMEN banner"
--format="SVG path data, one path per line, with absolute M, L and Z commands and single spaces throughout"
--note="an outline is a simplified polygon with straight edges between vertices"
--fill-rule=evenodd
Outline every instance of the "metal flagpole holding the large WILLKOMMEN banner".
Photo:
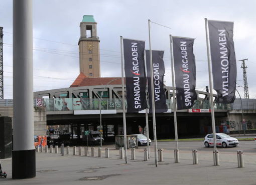
M 209 49 L 209 37 L 208 37 L 208 23 L 205 20 L 205 32 L 206 32 L 206 46 L 207 46 L 207 60 L 208 60 L 208 71 L 209 71 L 209 84 L 210 84 L 210 105 L 211 105 L 211 122 L 212 122 L 212 133 L 213 133 L 213 146 L 214 150 L 217 150 L 216 146 L 216 131 L 215 131 L 215 118 L 214 118 L 214 107 L 213 107 L 213 95 L 212 95 L 212 71 L 211 71 L 211 61 L 210 61 L 210 49 Z M 213 150 L 213 152 L 214 152 Z M 214 155 L 214 165 L 217 165 L 216 158 Z

